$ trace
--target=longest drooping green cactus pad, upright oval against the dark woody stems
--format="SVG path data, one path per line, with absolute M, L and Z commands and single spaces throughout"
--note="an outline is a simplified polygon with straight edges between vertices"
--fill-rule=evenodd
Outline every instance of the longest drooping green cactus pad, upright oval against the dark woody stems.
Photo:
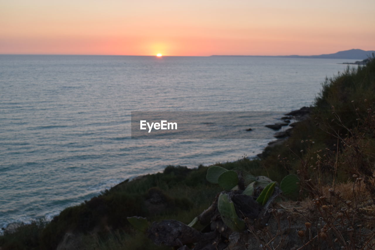
M 219 209 L 221 219 L 226 226 L 237 232 L 241 232 L 245 229 L 245 222 L 237 216 L 234 203 L 229 198 L 228 194 L 221 193 L 219 195 L 217 208 Z

